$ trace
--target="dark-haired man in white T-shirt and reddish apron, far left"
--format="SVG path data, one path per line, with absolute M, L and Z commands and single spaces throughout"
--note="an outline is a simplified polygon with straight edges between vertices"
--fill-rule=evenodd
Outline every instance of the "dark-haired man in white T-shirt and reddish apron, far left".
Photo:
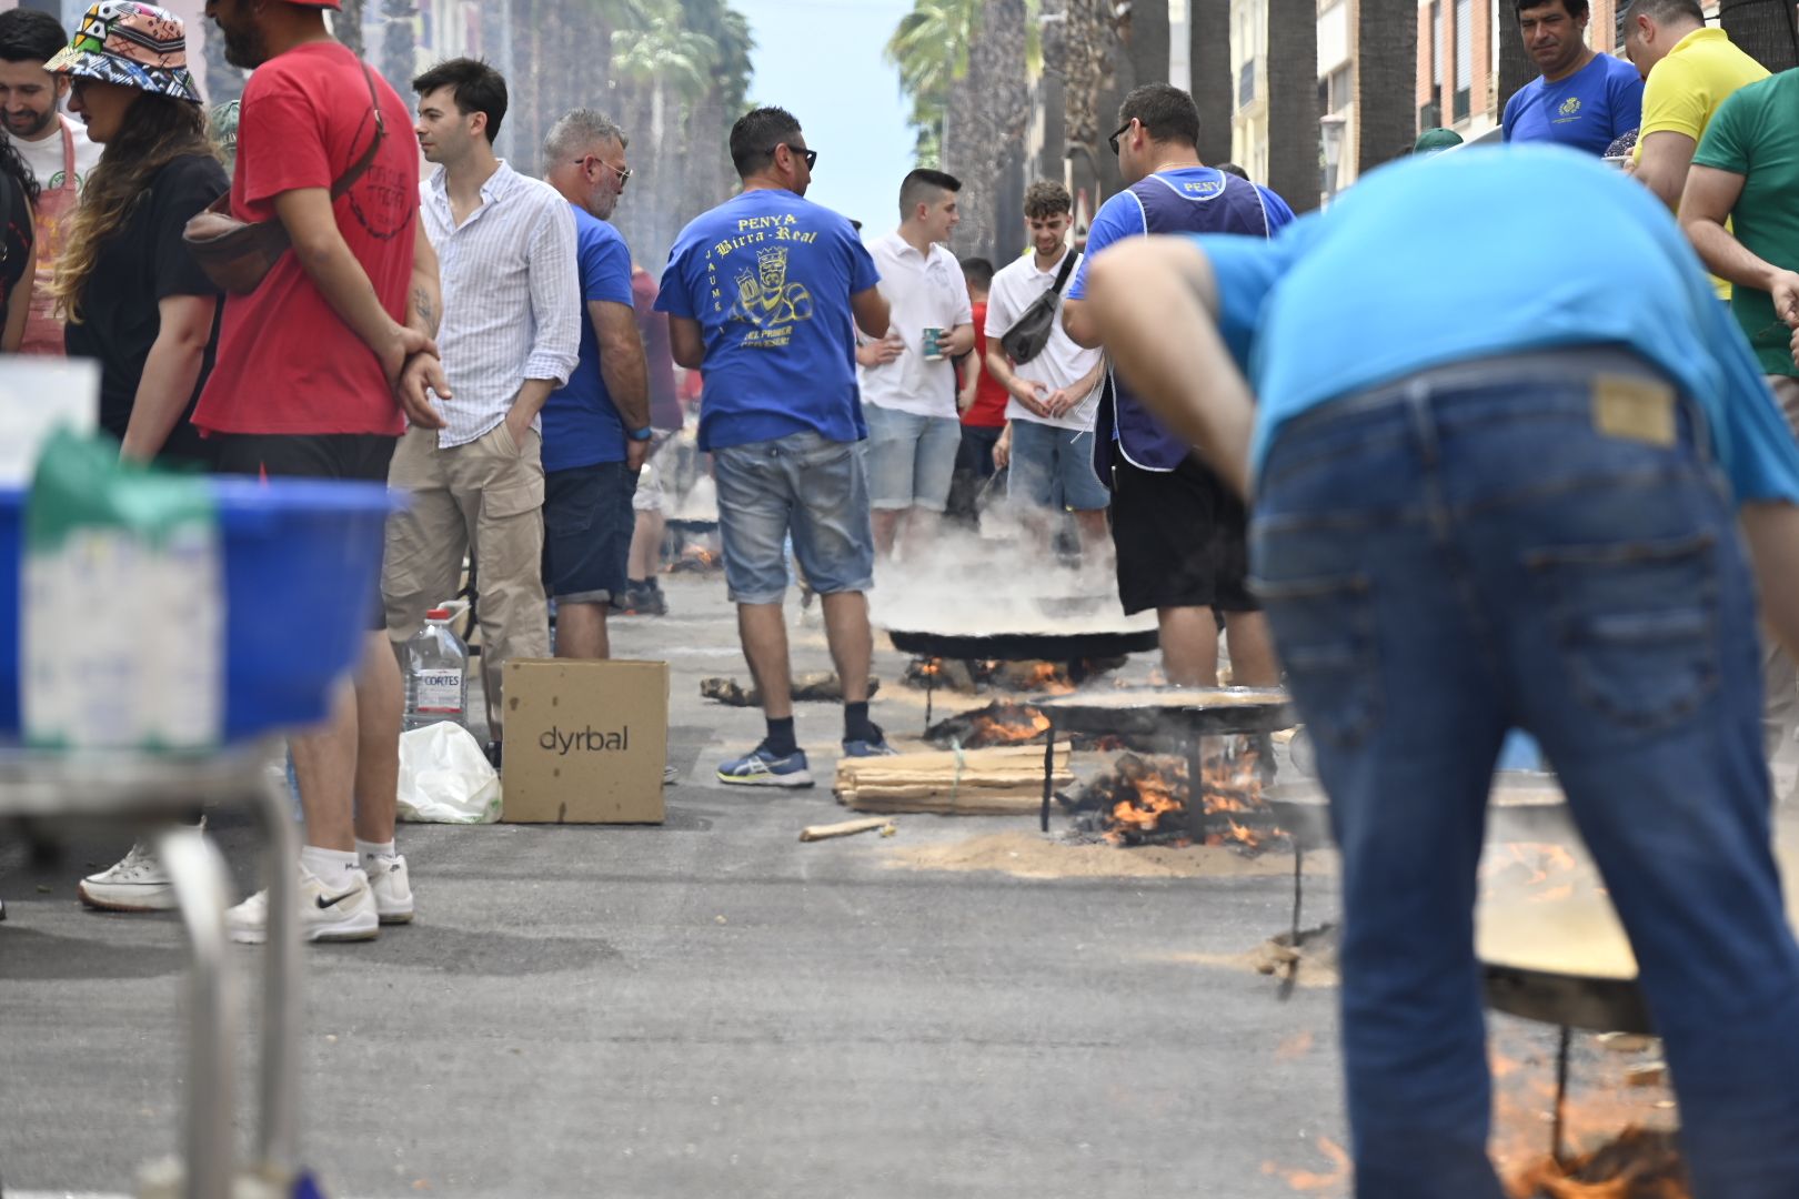
M 56 318 L 56 255 L 63 226 L 81 203 L 81 180 L 101 160 L 101 147 L 88 140 L 86 126 L 70 120 L 58 106 L 68 95 L 68 75 L 43 68 L 68 45 L 63 25 L 49 13 L 11 9 L 0 13 L 0 115 L 5 135 L 31 173 L 38 176 L 38 286 L 31 293 L 23 354 L 63 354 L 63 322 Z

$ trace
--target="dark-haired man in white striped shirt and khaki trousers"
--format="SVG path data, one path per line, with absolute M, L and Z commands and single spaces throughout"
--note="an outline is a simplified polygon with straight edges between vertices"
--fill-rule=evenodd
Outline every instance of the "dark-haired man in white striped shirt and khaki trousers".
M 389 521 L 387 633 L 410 638 L 457 591 L 473 546 L 489 755 L 500 741 L 500 667 L 549 656 L 538 410 L 574 370 L 581 293 L 574 216 L 552 187 L 495 158 L 506 79 L 459 58 L 412 81 L 419 149 L 437 164 L 419 214 L 443 270 L 437 331 L 444 428 L 407 430 L 389 482 L 412 507 Z

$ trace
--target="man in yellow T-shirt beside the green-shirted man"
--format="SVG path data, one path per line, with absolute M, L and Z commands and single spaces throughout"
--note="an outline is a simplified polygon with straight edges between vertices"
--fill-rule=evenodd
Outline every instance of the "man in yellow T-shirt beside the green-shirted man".
M 1624 9 L 1624 54 L 1644 79 L 1635 174 L 1673 210 L 1718 104 L 1768 70 L 1722 29 L 1705 29 L 1698 0 L 1633 0 Z M 1729 295 L 1729 284 L 1722 288 Z

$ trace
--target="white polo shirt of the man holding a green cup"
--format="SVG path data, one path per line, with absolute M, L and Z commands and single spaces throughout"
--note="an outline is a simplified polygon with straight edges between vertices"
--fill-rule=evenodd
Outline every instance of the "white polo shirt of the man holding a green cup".
M 973 324 L 961 262 L 939 244 L 923 255 L 898 232 L 876 239 L 869 253 L 882 273 L 880 291 L 892 309 L 892 329 L 905 338 L 905 352 L 883 367 L 858 369 L 864 403 L 957 419 L 955 365 L 948 358 L 925 361 L 925 329 L 948 333 Z

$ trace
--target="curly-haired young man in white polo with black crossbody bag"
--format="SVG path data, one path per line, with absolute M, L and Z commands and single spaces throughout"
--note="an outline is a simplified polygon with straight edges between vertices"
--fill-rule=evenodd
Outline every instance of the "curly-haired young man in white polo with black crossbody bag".
M 1006 404 L 1006 435 L 995 462 L 1009 462 L 1007 494 L 1020 514 L 1047 541 L 1051 514 L 1070 509 L 1081 528 L 1083 566 L 1110 559 L 1106 507 L 1112 502 L 1094 475 L 1094 413 L 1106 356 L 1083 349 L 1061 327 L 1061 293 L 1074 275 L 1079 253 L 1067 246 L 1074 201 L 1061 183 L 1038 180 L 1025 189 L 1024 219 L 1031 253 L 993 277 L 988 293 L 988 374 L 1011 394 Z M 1000 340 L 1025 309 L 1051 289 L 1056 318 L 1049 342 L 1029 361 L 1015 361 Z

